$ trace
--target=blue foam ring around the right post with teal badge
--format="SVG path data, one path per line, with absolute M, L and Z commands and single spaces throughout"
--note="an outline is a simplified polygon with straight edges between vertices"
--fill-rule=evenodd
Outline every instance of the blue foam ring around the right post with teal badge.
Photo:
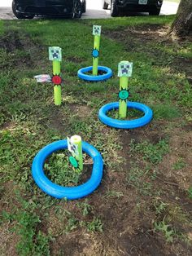
M 127 106 L 128 108 L 136 108 L 137 110 L 142 111 L 144 113 L 144 116 L 137 119 L 133 119 L 133 120 L 118 120 L 118 119 L 113 119 L 111 117 L 107 117 L 108 111 L 119 108 L 119 102 L 113 102 L 110 104 L 106 104 L 102 108 L 100 108 L 98 112 L 98 117 L 107 126 L 120 128 L 120 129 L 133 129 L 133 128 L 145 126 L 147 123 L 151 121 L 153 117 L 153 112 L 151 108 L 137 102 L 128 102 Z

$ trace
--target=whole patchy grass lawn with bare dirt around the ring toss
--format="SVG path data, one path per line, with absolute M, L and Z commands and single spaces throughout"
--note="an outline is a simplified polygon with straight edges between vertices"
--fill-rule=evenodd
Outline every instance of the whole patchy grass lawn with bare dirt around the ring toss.
M 173 19 L 0 23 L 1 255 L 192 254 L 192 41 L 166 38 Z M 114 71 L 107 82 L 76 77 L 92 63 L 93 24 L 103 26 L 100 64 Z M 33 79 L 52 73 L 48 46 L 63 49 L 60 107 L 53 104 L 53 86 Z M 151 123 L 135 130 L 98 121 L 98 109 L 118 99 L 121 60 L 133 62 L 130 100 L 154 111 Z M 103 181 L 86 198 L 56 200 L 34 183 L 33 157 L 75 134 L 101 152 Z M 60 151 L 45 171 L 55 183 L 76 186 L 90 177 L 86 154 L 84 162 L 79 175 Z

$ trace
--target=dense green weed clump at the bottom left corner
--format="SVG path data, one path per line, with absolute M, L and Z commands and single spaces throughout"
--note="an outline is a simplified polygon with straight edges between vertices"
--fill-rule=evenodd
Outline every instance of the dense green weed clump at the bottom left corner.
M 17 198 L 19 199 L 19 198 Z M 20 199 L 19 199 L 20 200 Z M 23 210 L 13 207 L 11 214 L 2 212 L 2 221 L 15 222 L 15 227 L 11 232 L 16 232 L 20 236 L 20 242 L 16 245 L 16 251 L 20 255 L 50 255 L 50 236 L 46 236 L 40 230 L 37 231 L 41 219 L 36 214 L 37 205 L 28 204 L 21 200 Z

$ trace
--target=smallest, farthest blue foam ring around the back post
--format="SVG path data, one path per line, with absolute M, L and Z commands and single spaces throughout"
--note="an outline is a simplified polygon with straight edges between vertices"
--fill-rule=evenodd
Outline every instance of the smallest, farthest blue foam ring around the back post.
M 98 75 L 98 76 L 93 76 L 93 75 L 88 75 L 86 73 L 90 72 L 93 70 L 93 66 L 86 67 L 86 68 L 81 68 L 77 72 L 77 76 L 80 77 L 83 80 L 86 81 L 91 81 L 91 82 L 98 82 L 98 81 L 103 81 L 107 80 L 110 77 L 112 77 L 112 70 L 111 68 L 103 67 L 103 66 L 98 66 L 98 71 L 103 71 L 105 72 L 103 75 Z

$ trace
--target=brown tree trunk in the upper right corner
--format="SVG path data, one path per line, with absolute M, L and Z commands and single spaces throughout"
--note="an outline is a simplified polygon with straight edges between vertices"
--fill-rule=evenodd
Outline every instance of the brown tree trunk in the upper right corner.
M 178 37 L 192 31 L 192 0 L 181 0 L 176 19 L 172 23 L 171 33 Z

